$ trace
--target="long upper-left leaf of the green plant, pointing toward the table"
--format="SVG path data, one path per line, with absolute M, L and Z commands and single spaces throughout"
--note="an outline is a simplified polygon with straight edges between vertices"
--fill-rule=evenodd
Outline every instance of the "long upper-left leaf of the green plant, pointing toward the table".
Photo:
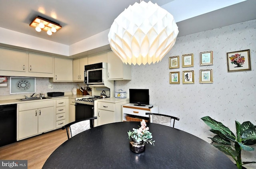
M 236 140 L 236 136 L 233 132 L 230 131 L 229 128 L 224 126 L 221 122 L 217 122 L 216 120 L 210 118 L 209 116 L 205 116 L 201 118 L 205 124 L 207 124 L 210 128 L 214 130 L 220 131 L 223 135 L 225 135 L 227 138 L 229 138 L 232 141 Z

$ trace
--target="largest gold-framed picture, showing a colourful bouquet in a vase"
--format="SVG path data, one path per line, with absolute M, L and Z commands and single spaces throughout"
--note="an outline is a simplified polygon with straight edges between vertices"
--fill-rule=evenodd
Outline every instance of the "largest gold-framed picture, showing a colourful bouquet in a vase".
M 250 49 L 227 53 L 228 72 L 250 71 Z

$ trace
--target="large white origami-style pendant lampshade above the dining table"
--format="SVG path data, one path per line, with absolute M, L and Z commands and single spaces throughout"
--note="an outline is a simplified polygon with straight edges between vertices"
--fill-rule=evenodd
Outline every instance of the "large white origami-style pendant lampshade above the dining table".
M 173 16 L 152 2 L 125 9 L 108 33 L 110 47 L 124 63 L 156 63 L 173 47 L 178 35 Z

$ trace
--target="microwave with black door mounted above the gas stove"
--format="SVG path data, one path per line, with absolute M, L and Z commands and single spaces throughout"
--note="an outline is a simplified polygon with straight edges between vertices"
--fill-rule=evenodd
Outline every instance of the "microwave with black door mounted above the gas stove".
M 84 84 L 104 84 L 104 73 L 107 73 L 107 63 L 96 63 L 84 66 Z

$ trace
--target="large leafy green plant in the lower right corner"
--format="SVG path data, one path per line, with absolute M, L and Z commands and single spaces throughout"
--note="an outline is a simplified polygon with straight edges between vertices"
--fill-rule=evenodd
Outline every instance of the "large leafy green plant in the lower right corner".
M 242 169 L 243 164 L 256 163 L 243 162 L 241 159 L 242 149 L 245 151 L 253 151 L 254 148 L 249 145 L 254 145 L 256 143 L 256 126 L 251 122 L 243 122 L 240 124 L 236 122 L 236 136 L 229 128 L 224 126 L 221 122 L 213 120 L 209 116 L 201 118 L 210 128 L 210 132 L 217 134 L 213 138 L 210 138 L 213 142 L 212 145 L 218 148 L 220 151 L 227 155 L 230 155 L 234 161 L 236 161 L 236 166 L 238 169 Z

